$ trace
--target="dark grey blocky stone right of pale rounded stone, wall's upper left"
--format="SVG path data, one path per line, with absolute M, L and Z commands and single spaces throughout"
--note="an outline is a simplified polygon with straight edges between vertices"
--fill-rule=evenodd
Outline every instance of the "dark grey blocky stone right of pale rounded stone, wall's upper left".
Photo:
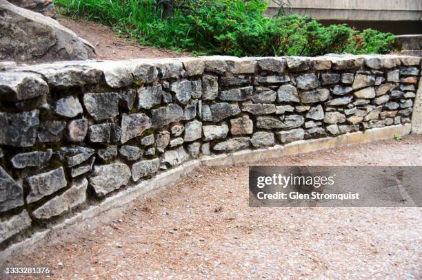
M 84 94 L 83 104 L 95 120 L 106 120 L 119 114 L 119 94 L 116 92 Z

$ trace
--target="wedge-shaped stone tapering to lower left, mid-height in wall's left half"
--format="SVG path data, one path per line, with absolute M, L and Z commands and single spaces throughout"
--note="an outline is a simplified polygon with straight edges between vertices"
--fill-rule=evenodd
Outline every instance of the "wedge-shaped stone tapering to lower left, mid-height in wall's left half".
M 151 119 L 145 114 L 124 115 L 121 118 L 121 143 L 141 136 L 143 131 L 151 127 Z

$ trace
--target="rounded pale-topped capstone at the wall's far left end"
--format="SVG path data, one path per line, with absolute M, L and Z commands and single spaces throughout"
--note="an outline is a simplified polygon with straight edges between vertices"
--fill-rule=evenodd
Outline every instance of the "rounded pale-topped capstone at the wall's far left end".
M 48 85 L 37 74 L 0 72 L 0 100 L 19 101 L 48 94 Z

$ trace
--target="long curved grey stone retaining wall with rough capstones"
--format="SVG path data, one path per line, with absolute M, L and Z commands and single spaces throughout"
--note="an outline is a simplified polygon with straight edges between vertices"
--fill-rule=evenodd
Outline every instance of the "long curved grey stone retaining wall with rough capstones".
M 412 56 L 0 69 L 0 250 L 191 159 L 410 123 L 421 73 Z

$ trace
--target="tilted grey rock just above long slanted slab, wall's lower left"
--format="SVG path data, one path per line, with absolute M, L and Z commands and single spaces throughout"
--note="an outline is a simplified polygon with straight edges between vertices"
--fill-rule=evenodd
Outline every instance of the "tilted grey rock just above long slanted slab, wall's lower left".
M 30 176 L 26 178 L 25 181 L 30 189 L 30 192 L 26 197 L 26 202 L 28 203 L 41 200 L 41 198 L 46 195 L 51 195 L 68 184 L 63 167 Z

